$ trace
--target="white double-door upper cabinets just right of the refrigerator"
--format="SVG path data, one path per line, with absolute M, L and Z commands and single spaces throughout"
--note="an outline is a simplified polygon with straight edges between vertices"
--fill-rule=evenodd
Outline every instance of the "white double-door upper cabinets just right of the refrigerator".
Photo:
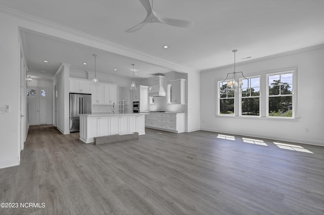
M 117 86 L 113 84 L 103 84 L 92 86 L 92 103 L 93 104 L 113 104 L 116 103 Z

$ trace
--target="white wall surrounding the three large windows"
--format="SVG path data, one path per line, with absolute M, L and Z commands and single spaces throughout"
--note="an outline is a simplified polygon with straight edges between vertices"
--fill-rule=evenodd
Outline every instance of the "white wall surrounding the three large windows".
M 243 71 L 247 77 L 297 67 L 297 116 L 299 119 L 295 121 L 215 116 L 216 81 L 222 81 L 227 73 L 232 72 L 233 67 L 202 72 L 200 76 L 201 129 L 324 145 L 323 56 L 324 46 L 317 46 L 239 64 L 236 67 L 236 71 Z M 309 133 L 306 132 L 306 128 L 309 129 Z

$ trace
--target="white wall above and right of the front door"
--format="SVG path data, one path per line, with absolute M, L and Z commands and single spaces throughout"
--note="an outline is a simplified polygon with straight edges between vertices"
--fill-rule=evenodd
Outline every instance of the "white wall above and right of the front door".
M 33 78 L 31 82 L 27 82 L 27 86 L 33 86 L 33 87 L 47 87 L 47 124 L 52 125 L 53 124 L 53 90 L 54 85 L 53 81 L 49 80 L 42 80 Z

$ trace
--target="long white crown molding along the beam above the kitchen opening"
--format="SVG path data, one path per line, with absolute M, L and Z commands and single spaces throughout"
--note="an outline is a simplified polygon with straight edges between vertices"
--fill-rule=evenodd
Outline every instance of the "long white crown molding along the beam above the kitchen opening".
M 145 53 L 145 52 L 139 51 L 137 49 L 134 49 L 134 48 L 131 48 L 131 47 L 128 47 L 125 45 L 121 45 L 121 44 L 118 44 L 118 43 L 115 43 L 115 42 L 112 42 L 112 41 L 109 41 L 109 40 L 106 40 L 106 39 L 103 39 L 103 38 L 100 38 L 100 37 L 97 37 L 97 36 L 94 36 L 91 34 L 87 34 L 85 32 L 81 32 L 81 31 L 78 31 L 78 30 L 75 30 L 72 28 L 68 28 L 66 26 L 63 26 L 63 25 L 60 25 L 60 24 L 57 24 L 54 22 L 50 22 L 50 21 L 32 16 L 29 14 L 25 14 L 23 12 L 16 11 L 16 10 L 13 10 L 11 8 L 7 8 L 7 7 L 1 6 L 1 5 L 0 5 L 0 12 L 10 15 L 10 16 L 13 16 L 13 17 L 16 17 L 18 19 L 24 20 L 24 21 L 29 21 L 29 22 L 32 22 L 35 24 L 44 25 L 46 27 L 51 27 L 51 28 L 57 29 L 59 31 L 68 32 L 68 33 L 74 34 L 76 36 L 84 37 L 84 38 L 93 40 L 99 44 L 101 43 L 104 45 L 108 45 L 109 49 L 111 49 L 111 50 L 102 49 L 102 48 L 101 49 L 116 53 L 118 55 L 137 59 L 137 60 L 144 61 L 144 62 L 153 64 L 153 65 L 170 68 L 171 70 L 175 70 L 177 72 L 184 72 L 184 73 L 200 72 L 196 69 L 188 68 L 188 67 L 185 67 L 185 66 L 182 66 L 182 65 L 164 60 L 164 59 L 160 59 L 160 58 L 151 56 L 149 53 Z M 24 29 L 26 31 L 28 31 L 28 30 L 33 31 L 32 29 L 23 28 L 23 27 L 20 27 L 20 29 Z M 51 36 L 54 36 L 54 35 L 51 35 Z M 62 38 L 62 39 L 65 39 L 65 38 Z M 85 45 L 87 45 L 87 44 L 85 44 Z M 95 47 L 95 46 L 92 46 L 92 47 Z M 95 48 L 99 48 L 99 46 L 95 47 Z

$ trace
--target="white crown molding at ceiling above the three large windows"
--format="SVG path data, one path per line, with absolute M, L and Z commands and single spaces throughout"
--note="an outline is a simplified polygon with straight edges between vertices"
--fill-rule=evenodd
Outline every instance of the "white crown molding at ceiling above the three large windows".
M 318 48 L 324 48 L 324 44 L 313 45 L 313 46 L 309 46 L 309 47 L 305 47 L 305 48 L 299 48 L 299 49 L 295 49 L 295 50 L 291 50 L 291 51 L 277 53 L 275 55 L 270 55 L 270 56 L 257 58 L 257 59 L 253 59 L 253 60 L 249 60 L 249 61 L 245 61 L 245 62 L 235 63 L 235 65 L 239 66 L 239 65 L 245 65 L 245 64 L 252 64 L 255 62 L 265 61 L 265 60 L 278 58 L 278 57 L 284 57 L 284 56 L 288 56 L 288 55 L 293 55 L 295 53 L 301 53 L 301 52 L 310 51 L 310 50 L 314 50 L 314 49 L 318 49 Z M 200 73 L 213 72 L 215 70 L 221 70 L 221 69 L 233 67 L 233 65 L 234 64 L 229 64 L 229 65 L 225 65 L 225 66 L 221 66 L 221 67 L 215 67 L 215 68 L 211 68 L 211 69 L 207 69 L 207 70 L 202 70 Z

